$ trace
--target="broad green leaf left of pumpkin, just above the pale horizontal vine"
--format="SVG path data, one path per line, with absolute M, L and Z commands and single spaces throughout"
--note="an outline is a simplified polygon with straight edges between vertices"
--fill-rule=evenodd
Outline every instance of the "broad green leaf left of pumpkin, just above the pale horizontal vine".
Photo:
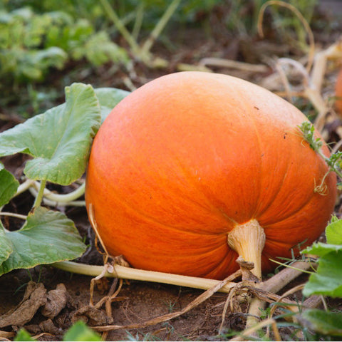
M 11 241 L 13 252 L 0 265 L 0 276 L 12 269 L 76 259 L 86 250 L 73 221 L 61 212 L 43 207 L 28 214 L 21 229 L 5 235 Z

